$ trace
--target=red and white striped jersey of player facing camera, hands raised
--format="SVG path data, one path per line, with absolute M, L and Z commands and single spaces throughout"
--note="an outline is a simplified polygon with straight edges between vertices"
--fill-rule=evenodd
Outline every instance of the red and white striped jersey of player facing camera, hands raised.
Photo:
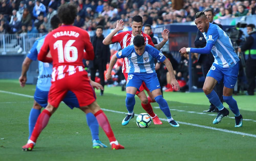
M 143 32 L 141 33 L 141 36 L 143 36 L 145 39 L 145 44 L 149 44 L 154 47 L 155 45 L 153 44 L 151 37 Z M 133 38 L 134 35 L 132 34 L 132 31 L 125 31 L 113 36 L 111 41 L 112 43 L 118 42 L 121 45 L 121 48 L 123 49 L 129 45 L 133 45 Z M 129 73 L 129 61 L 127 58 L 124 58 L 122 72 Z

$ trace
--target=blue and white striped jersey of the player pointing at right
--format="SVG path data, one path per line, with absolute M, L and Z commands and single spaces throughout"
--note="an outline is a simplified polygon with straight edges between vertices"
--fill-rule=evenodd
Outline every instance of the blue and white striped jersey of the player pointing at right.
M 229 68 L 239 61 L 234 52 L 230 38 L 218 25 L 209 24 L 209 29 L 203 33 L 207 43 L 213 44 L 211 52 L 215 58 L 214 63 L 223 68 Z

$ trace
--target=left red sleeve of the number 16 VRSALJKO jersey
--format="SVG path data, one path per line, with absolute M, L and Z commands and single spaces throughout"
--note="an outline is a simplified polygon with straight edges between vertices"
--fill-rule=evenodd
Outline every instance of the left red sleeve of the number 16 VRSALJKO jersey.
M 45 37 L 44 44 L 41 47 L 40 52 L 39 52 L 39 54 L 37 56 L 37 59 L 39 61 L 46 62 L 46 63 L 52 62 L 52 58 L 46 57 L 48 52 L 49 52 L 49 36 L 50 36 L 50 34 L 48 34 Z

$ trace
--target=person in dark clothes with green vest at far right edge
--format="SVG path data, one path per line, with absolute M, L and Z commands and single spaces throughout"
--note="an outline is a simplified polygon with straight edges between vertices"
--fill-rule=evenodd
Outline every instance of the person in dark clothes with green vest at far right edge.
M 239 52 L 244 52 L 246 60 L 246 77 L 248 81 L 248 95 L 254 95 L 256 76 L 256 30 L 254 24 L 247 25 L 248 37 L 246 42 L 238 48 Z

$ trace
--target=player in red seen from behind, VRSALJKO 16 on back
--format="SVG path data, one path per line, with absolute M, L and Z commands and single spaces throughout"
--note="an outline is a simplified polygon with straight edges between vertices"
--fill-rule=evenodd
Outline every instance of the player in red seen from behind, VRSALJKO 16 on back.
M 77 6 L 65 4 L 58 8 L 62 26 L 50 32 L 38 54 L 38 60 L 53 63 L 48 105 L 39 115 L 35 128 L 23 150 L 32 150 L 41 131 L 46 127 L 51 115 L 57 110 L 68 91 L 72 91 L 81 110 L 90 109 L 110 141 L 112 149 L 124 149 L 116 140 L 108 118 L 97 104 L 96 95 L 84 70 L 83 50 L 94 56 L 93 46 L 87 31 L 73 26 L 77 16 Z M 51 52 L 52 58 L 47 57 Z

